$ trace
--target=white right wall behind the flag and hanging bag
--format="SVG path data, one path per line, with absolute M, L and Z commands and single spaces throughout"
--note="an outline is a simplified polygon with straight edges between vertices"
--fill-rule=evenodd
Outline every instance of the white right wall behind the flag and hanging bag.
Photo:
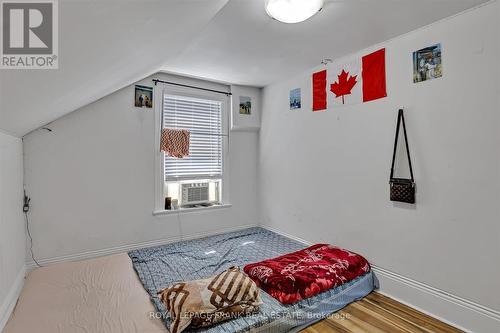
M 359 52 L 387 48 L 388 97 L 378 101 L 311 112 L 311 74 L 320 67 L 266 87 L 264 224 L 350 248 L 383 269 L 500 310 L 499 21 L 494 2 Z M 444 76 L 414 84 L 412 51 L 437 42 Z M 297 87 L 303 108 L 289 111 Z M 414 207 L 388 199 L 400 106 L 418 186 Z

